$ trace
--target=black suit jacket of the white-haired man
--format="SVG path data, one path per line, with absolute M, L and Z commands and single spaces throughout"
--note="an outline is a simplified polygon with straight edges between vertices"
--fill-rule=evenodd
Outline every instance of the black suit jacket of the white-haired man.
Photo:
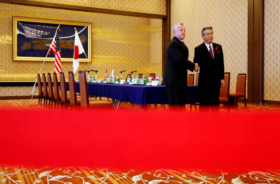
M 173 37 L 166 51 L 166 63 L 163 84 L 168 86 L 186 86 L 188 70 L 193 71 L 195 64 L 188 60 L 188 47 L 177 37 Z

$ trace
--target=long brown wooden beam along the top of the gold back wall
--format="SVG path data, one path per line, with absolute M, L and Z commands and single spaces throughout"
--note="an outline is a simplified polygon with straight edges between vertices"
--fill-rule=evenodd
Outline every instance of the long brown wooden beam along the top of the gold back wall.
M 63 9 L 63 10 L 86 11 L 92 13 L 105 13 L 105 14 L 112 14 L 112 15 L 136 16 L 136 17 L 143 17 L 143 18 L 155 18 L 155 19 L 167 18 L 166 15 L 139 13 L 139 12 L 122 11 L 122 10 L 110 10 L 110 9 L 94 8 L 94 7 L 87 7 L 87 6 L 74 6 L 74 5 L 59 4 L 59 3 L 45 3 L 45 2 L 30 1 L 30 0 L 0 0 L 0 3 L 19 4 L 25 6 L 37 6 L 37 7 L 44 7 L 44 8 Z

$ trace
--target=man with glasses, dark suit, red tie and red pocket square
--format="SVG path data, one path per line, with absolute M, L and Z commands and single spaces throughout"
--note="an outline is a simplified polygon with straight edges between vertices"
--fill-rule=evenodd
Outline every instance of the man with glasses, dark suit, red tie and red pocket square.
M 220 88 L 224 81 L 224 55 L 222 46 L 213 43 L 214 33 L 212 27 L 202 29 L 204 42 L 194 49 L 193 62 L 198 63 L 198 98 L 199 109 L 211 112 L 219 111 Z

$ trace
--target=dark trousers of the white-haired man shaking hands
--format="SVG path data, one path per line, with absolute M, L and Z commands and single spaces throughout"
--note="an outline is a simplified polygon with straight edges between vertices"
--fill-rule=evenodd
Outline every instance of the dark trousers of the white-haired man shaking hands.
M 167 86 L 166 91 L 169 107 L 184 107 L 186 102 L 187 86 Z

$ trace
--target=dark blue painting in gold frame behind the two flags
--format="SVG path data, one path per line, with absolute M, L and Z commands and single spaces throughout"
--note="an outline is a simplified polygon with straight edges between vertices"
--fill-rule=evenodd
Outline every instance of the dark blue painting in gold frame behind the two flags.
M 49 51 L 50 44 L 59 27 L 62 62 L 73 62 L 75 29 L 85 50 L 80 62 L 91 62 L 91 28 L 89 22 L 73 22 L 41 18 L 13 16 L 13 60 L 14 61 L 55 61 Z M 47 56 L 47 57 L 46 57 Z

